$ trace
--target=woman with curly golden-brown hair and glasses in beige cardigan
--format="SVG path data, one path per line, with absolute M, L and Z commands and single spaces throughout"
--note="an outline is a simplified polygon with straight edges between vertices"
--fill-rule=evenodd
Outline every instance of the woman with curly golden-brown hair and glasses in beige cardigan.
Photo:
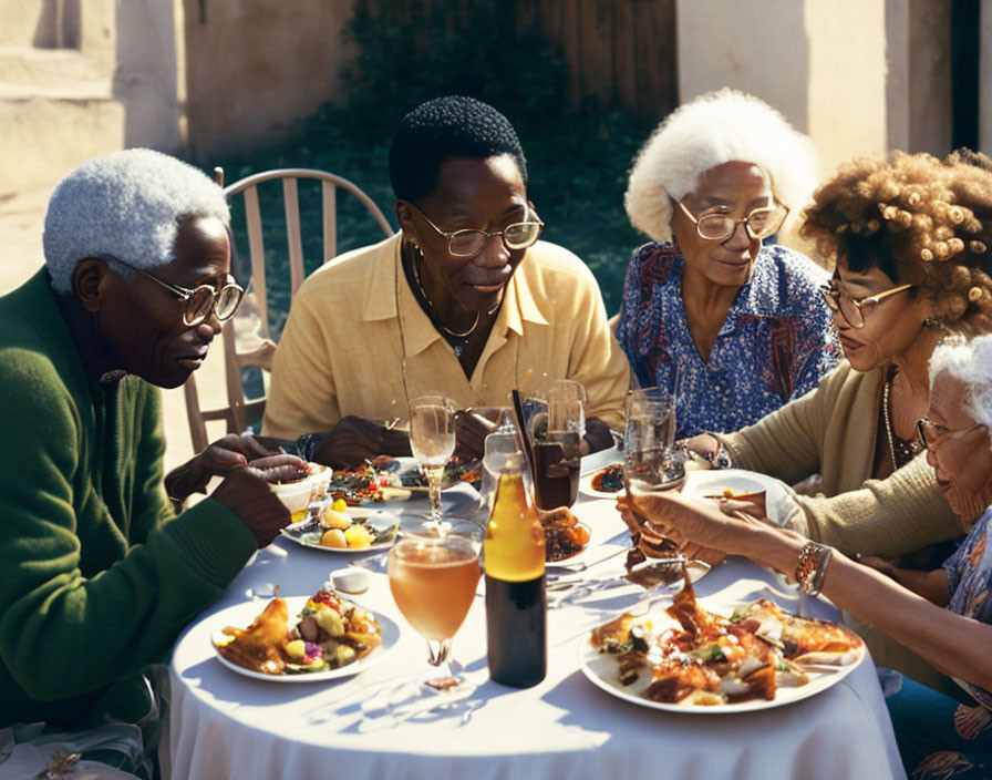
M 856 160 L 814 194 L 802 234 L 836 258 L 824 295 L 846 360 L 754 425 L 690 448 L 790 484 L 818 473 L 794 527 L 848 554 L 962 535 L 971 517 L 937 490 L 914 422 L 941 336 L 992 330 L 992 174 L 955 155 Z

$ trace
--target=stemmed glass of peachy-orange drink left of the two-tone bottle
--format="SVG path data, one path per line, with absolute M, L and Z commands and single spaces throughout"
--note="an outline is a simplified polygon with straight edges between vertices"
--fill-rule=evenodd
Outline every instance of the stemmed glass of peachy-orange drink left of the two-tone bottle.
M 480 574 L 482 527 L 471 521 L 425 524 L 421 532 L 403 532 L 390 550 L 389 575 L 393 599 L 406 622 L 427 640 L 432 666 L 450 664 L 452 640 L 465 622 Z M 448 674 L 426 680 L 446 689 L 461 680 Z

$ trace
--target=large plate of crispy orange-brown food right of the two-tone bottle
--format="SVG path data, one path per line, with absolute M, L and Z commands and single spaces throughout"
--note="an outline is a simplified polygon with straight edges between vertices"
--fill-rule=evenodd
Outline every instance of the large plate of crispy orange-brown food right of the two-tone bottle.
M 748 712 L 806 699 L 865 658 L 854 632 L 768 599 L 709 612 L 685 586 L 663 608 L 624 613 L 580 643 L 582 674 L 631 704 L 672 712 Z

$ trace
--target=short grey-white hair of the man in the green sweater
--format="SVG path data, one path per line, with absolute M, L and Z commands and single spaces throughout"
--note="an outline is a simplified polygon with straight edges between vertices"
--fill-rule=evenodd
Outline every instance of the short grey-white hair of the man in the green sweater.
M 72 273 L 87 257 L 116 257 L 143 269 L 172 261 L 185 216 L 230 224 L 224 191 L 198 168 L 148 148 L 87 160 L 49 201 L 42 243 L 52 287 L 71 291 Z

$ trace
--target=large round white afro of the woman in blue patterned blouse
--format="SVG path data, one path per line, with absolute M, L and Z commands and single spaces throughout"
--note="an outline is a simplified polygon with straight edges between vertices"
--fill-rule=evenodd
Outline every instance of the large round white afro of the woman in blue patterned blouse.
M 813 142 L 781 113 L 736 90 L 707 92 L 669 114 L 638 153 L 623 198 L 631 224 L 657 242 L 672 240 L 672 203 L 731 161 L 767 173 L 790 215 L 809 201 L 819 176 Z

